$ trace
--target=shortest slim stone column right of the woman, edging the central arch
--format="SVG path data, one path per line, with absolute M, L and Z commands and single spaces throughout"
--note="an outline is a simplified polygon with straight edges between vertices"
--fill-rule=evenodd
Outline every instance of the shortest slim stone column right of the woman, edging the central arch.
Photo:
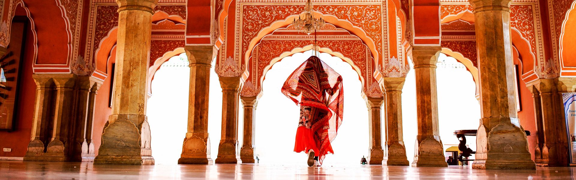
M 380 110 L 384 98 L 368 98 L 366 100 L 370 117 L 370 154 L 368 164 L 382 164 L 384 149 L 382 149 L 382 119 Z

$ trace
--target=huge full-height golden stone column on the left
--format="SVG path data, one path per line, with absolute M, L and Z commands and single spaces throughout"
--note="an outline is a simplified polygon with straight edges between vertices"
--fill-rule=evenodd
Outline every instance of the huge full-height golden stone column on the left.
M 152 14 L 158 0 L 116 0 L 118 52 L 112 115 L 94 164 L 154 164 L 146 117 Z

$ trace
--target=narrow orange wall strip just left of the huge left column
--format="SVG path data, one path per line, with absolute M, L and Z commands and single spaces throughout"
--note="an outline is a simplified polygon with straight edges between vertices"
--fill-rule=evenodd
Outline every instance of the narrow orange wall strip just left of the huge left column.
M 114 48 L 115 50 L 116 48 Z M 116 51 L 112 51 L 111 58 L 108 61 L 107 69 L 112 69 L 112 63 L 116 62 Z M 93 143 L 94 143 L 94 153 L 98 155 L 98 148 L 100 148 L 100 143 L 102 142 L 102 132 L 104 130 L 104 125 L 108 121 L 108 116 L 112 114 L 112 108 L 109 106 L 110 88 L 112 87 L 112 74 L 108 74 L 108 77 L 104 80 L 104 83 L 98 89 L 98 94 L 96 95 L 96 106 L 94 107 L 94 125 L 93 125 Z

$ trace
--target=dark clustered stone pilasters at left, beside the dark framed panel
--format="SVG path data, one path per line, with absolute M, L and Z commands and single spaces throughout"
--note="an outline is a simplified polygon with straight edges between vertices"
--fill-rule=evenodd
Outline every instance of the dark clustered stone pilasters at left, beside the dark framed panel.
M 36 81 L 36 104 L 32 124 L 32 138 L 26 161 L 73 160 L 74 147 L 73 90 L 75 74 L 33 74 Z

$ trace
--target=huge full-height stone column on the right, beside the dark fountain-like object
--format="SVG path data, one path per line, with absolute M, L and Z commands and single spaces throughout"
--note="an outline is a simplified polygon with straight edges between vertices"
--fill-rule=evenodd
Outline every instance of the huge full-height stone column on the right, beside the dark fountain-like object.
M 517 118 L 510 40 L 511 0 L 469 0 L 474 8 L 482 119 L 472 168 L 534 169 Z

